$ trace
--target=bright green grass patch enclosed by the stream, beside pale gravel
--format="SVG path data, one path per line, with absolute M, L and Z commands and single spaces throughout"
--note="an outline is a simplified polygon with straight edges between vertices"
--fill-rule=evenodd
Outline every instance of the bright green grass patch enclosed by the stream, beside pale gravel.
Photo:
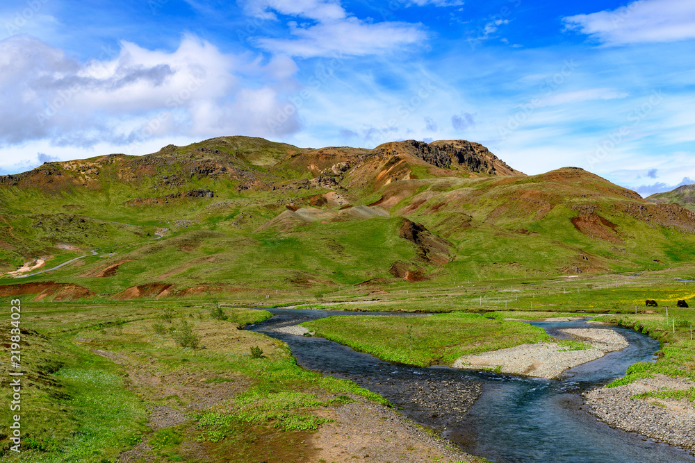
M 453 312 L 423 317 L 328 317 L 302 323 L 331 339 L 382 360 L 428 367 L 471 355 L 553 338 L 521 321 Z

